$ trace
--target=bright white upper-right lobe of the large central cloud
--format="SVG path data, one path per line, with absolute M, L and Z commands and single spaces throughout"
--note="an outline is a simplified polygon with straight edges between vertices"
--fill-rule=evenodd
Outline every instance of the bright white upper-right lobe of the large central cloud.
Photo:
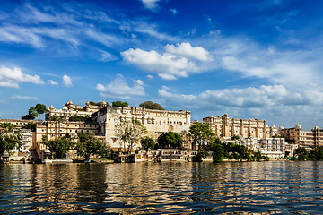
M 206 51 L 203 47 L 192 47 L 192 45 L 190 45 L 188 42 L 177 43 L 176 46 L 168 44 L 165 49 L 168 53 L 176 56 L 183 56 L 199 61 L 211 60 L 211 56 L 209 55 L 208 51 Z

